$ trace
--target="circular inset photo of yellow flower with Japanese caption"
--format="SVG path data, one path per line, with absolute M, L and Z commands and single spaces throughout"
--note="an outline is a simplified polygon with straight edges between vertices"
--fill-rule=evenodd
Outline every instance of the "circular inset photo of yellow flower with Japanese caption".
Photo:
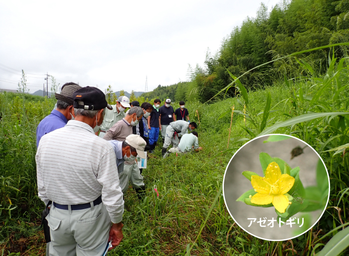
M 284 134 L 250 140 L 232 156 L 223 196 L 230 216 L 260 239 L 284 241 L 310 230 L 325 212 L 330 179 L 320 155 Z

